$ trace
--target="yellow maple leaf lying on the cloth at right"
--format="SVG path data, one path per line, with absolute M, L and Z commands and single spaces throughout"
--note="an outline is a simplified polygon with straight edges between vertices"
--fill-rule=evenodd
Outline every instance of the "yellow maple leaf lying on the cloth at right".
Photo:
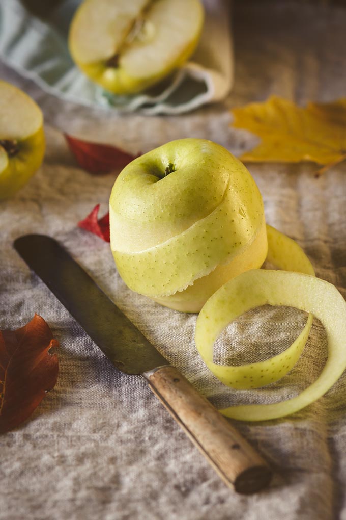
M 232 111 L 233 126 L 262 140 L 243 153 L 243 161 L 300 162 L 327 165 L 321 173 L 346 159 L 346 98 L 331 103 L 308 103 L 306 108 L 272 96 Z

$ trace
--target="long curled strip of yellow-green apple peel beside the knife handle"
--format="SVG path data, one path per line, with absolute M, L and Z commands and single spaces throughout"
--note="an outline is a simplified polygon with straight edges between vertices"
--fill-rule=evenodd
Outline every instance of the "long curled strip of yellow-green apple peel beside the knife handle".
M 270 226 L 267 230 L 268 260 L 279 267 L 294 267 L 300 272 L 252 269 L 227 282 L 201 310 L 196 324 L 197 348 L 207 367 L 228 386 L 243 389 L 263 386 L 281 379 L 293 367 L 293 360 L 298 360 L 313 315 L 326 330 L 328 359 L 319 378 L 297 397 L 275 404 L 241 405 L 220 410 L 227 417 L 243 421 L 284 417 L 308 406 L 325 394 L 346 368 L 346 302 L 342 295 L 334 285 L 314 277 L 313 268 L 298 244 Z M 296 341 L 285 352 L 263 362 L 240 367 L 216 365 L 213 345 L 222 330 L 246 311 L 265 304 L 286 305 L 311 313 Z M 241 382 L 244 376 L 246 384 Z

